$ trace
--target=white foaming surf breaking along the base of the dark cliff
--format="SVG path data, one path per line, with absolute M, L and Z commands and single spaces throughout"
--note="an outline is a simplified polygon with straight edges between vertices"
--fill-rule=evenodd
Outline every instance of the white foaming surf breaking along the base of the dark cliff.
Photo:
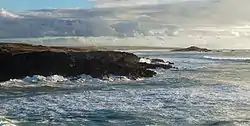
M 143 80 L 138 78 L 138 80 Z M 9 81 L 1 82 L 0 87 L 74 87 L 77 85 L 85 84 L 101 84 L 101 83 L 119 83 L 119 82 L 128 82 L 132 81 L 131 79 L 125 76 L 115 76 L 109 75 L 103 77 L 102 79 L 93 78 L 89 75 L 79 75 L 76 77 L 63 77 L 61 75 L 52 75 L 52 76 L 27 76 L 23 79 L 10 79 Z M 71 85 L 72 84 L 72 85 Z

